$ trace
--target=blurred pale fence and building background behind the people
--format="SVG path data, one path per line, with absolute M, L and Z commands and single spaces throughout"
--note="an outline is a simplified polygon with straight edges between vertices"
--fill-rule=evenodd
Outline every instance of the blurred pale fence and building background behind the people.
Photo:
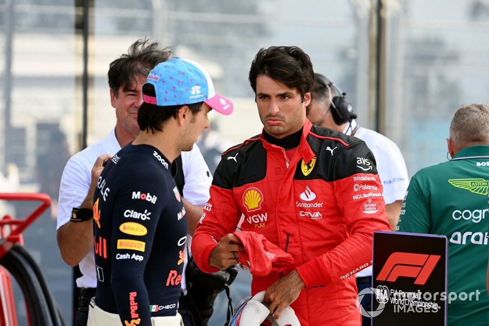
M 234 101 L 200 138 L 211 171 L 223 150 L 261 132 L 247 80 L 261 47 L 308 53 L 348 93 L 359 124 L 398 144 L 410 176 L 446 160 L 456 109 L 489 103 L 488 0 L 0 0 L 0 28 L 0 192 L 52 197 L 24 240 L 69 324 L 75 271 L 56 243 L 59 181 L 72 154 L 114 127 L 107 71 L 135 40 L 201 63 Z M 0 201 L 0 215 L 32 207 Z M 231 286 L 235 304 L 249 280 L 242 271 Z M 209 325 L 224 324 L 226 304 L 220 295 Z

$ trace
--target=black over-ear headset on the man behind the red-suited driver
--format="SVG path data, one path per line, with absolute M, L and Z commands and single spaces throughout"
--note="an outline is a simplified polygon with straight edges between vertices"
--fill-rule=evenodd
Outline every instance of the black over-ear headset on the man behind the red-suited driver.
M 343 92 L 339 87 L 333 84 L 328 78 L 321 74 L 314 74 L 314 78 L 316 79 L 316 83 L 321 84 L 323 87 L 328 88 L 328 95 L 330 97 L 331 103 L 331 114 L 333 115 L 334 122 L 337 125 L 342 125 L 347 122 L 352 122 L 353 119 L 356 118 L 356 114 L 353 113 L 353 107 L 348 102 L 346 98 L 346 93 Z M 336 93 L 341 94 L 337 96 L 331 96 L 331 87 L 334 87 Z

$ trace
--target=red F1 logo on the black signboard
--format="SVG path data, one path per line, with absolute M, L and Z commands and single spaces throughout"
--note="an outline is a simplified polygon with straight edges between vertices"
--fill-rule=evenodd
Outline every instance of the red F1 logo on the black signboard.
M 440 260 L 439 255 L 392 253 L 378 273 L 378 281 L 396 282 L 400 276 L 416 278 L 415 284 L 424 285 Z

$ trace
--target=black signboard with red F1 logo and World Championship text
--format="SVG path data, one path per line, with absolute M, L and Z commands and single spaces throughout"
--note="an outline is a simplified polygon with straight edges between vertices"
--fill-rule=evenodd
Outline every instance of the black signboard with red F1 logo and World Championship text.
M 374 326 L 445 326 L 446 265 L 445 236 L 375 232 L 373 311 L 362 313 Z

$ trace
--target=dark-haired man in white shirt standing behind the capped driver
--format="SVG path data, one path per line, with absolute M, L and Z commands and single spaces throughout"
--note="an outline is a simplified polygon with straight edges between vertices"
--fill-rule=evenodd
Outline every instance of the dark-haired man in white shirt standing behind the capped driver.
M 76 280 L 80 288 L 77 326 L 87 325 L 89 300 L 94 297 L 97 284 L 91 211 L 96 180 L 103 169 L 104 160 L 132 142 L 139 133 L 136 119 L 143 101 L 142 85 L 154 66 L 171 57 L 173 53 L 170 48 L 162 48 L 156 42 L 138 40 L 130 46 L 127 54 L 111 63 L 108 76 L 111 105 L 117 117 L 115 128 L 105 139 L 73 155 L 63 171 L 58 199 L 57 239 L 63 260 L 70 266 L 79 265 L 83 274 Z M 197 146 L 190 152 L 182 152 L 181 160 L 178 158 L 175 163 L 175 179 L 181 181 L 180 184 L 177 181 L 180 192 L 183 186 L 183 202 L 189 234 L 192 235 L 202 216 L 202 205 L 209 198 L 212 176 Z M 185 256 L 185 264 L 186 259 Z M 191 326 L 188 311 L 185 311 L 188 298 L 185 295 L 184 275 L 181 284 L 179 312 L 185 326 Z

